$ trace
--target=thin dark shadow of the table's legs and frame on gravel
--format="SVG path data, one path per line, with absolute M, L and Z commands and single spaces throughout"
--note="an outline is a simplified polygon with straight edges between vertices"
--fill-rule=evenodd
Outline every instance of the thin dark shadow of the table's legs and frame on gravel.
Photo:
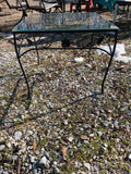
M 26 92 L 26 94 L 21 95 L 21 96 L 19 97 L 19 98 L 22 98 L 22 101 L 25 103 L 25 105 L 26 105 L 26 111 L 28 111 L 28 113 L 29 113 L 29 117 L 26 117 L 26 119 L 24 120 L 24 122 L 17 122 L 17 121 L 16 121 L 16 123 L 15 123 L 15 122 L 7 122 L 7 121 L 5 121 L 5 120 L 7 120 L 7 115 L 8 115 L 8 113 L 9 113 L 9 109 L 10 109 L 11 104 L 14 102 L 14 99 L 15 99 L 15 97 L 16 97 L 16 90 L 17 90 L 17 88 L 20 87 L 20 82 L 22 80 L 22 78 L 20 78 L 20 79 L 17 79 L 16 85 L 15 85 L 13 91 L 12 91 L 12 95 L 11 95 L 9 101 L 8 101 L 7 108 L 5 108 L 4 111 L 3 111 L 3 116 L 2 116 L 2 119 L 1 119 L 1 121 L 0 121 L 0 128 L 8 129 L 8 128 L 11 128 L 11 127 L 15 127 L 15 126 L 22 125 L 22 124 L 24 124 L 24 123 L 26 123 L 26 122 L 35 121 L 35 120 L 38 120 L 38 119 L 40 119 L 40 117 L 45 117 L 46 115 L 50 115 L 50 114 L 52 114 L 52 113 L 55 113 L 55 112 L 58 112 L 58 110 L 61 110 L 61 109 L 67 108 L 67 107 L 70 107 L 70 105 L 73 105 L 73 104 L 79 103 L 79 102 L 81 102 L 81 101 L 83 101 L 83 100 L 87 100 L 87 99 L 91 100 L 91 98 L 92 98 L 92 99 L 97 99 L 97 95 L 96 95 L 96 94 L 88 95 L 88 96 L 83 96 L 83 97 L 78 98 L 78 99 L 75 99 L 75 100 L 72 100 L 72 101 L 70 101 L 70 102 L 68 102 L 68 103 L 63 103 L 62 107 L 57 107 L 57 108 L 50 109 L 50 111 L 48 111 L 48 112 L 46 112 L 46 113 L 38 114 L 38 115 L 35 115 L 35 116 L 34 116 L 34 115 L 29 112 L 29 105 L 31 105 L 31 101 L 32 101 L 32 94 L 33 94 L 33 88 L 35 87 L 35 85 L 38 84 L 38 83 L 40 83 L 39 76 L 41 76 L 41 75 L 43 75 L 43 74 L 40 74 L 40 73 L 37 74 L 37 77 L 32 82 L 32 86 L 31 86 L 31 98 L 29 98 L 29 99 L 27 99 L 27 90 L 24 90 L 24 92 Z M 99 94 L 98 94 L 98 95 L 99 95 Z M 19 100 L 19 98 L 17 98 L 17 100 Z M 20 117 L 20 116 L 21 116 L 21 114 L 15 115 L 15 117 Z M 10 124 L 10 125 L 7 126 L 7 125 L 5 125 L 7 123 Z

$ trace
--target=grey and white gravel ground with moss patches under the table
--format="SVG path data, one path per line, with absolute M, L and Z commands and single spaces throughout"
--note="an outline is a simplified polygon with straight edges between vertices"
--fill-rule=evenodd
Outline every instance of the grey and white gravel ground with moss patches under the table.
M 10 26 L 0 20 L 1 28 Z M 131 23 L 117 25 L 131 57 Z M 88 63 L 86 50 L 46 50 L 37 65 L 28 52 L 22 59 L 27 100 L 12 36 L 1 36 L 0 46 L 0 174 L 131 174 L 130 62 L 114 60 L 105 94 L 96 95 L 107 55 L 93 51 Z

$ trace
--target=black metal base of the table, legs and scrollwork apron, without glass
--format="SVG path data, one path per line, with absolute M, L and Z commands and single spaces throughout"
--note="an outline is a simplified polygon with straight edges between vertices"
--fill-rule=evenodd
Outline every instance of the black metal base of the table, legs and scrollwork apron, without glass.
M 88 57 L 91 54 L 92 49 L 100 49 L 102 51 L 106 52 L 108 55 L 110 55 L 110 60 L 108 62 L 108 66 L 106 69 L 103 82 L 102 82 L 102 94 L 104 94 L 104 85 L 105 80 L 115 54 L 116 50 L 116 45 L 117 45 L 117 34 L 118 30 L 112 30 L 115 33 L 114 36 L 114 47 L 110 47 L 110 33 L 109 30 L 95 30 L 95 32 L 88 32 L 88 33 L 51 33 L 51 34 L 45 34 L 45 33 L 29 33 L 29 34 L 16 34 L 13 33 L 14 35 L 14 47 L 15 47 L 15 52 L 16 52 L 16 58 L 20 64 L 20 67 L 22 70 L 23 76 L 25 78 L 25 83 L 27 86 L 27 96 L 28 99 L 31 98 L 31 89 L 28 85 L 28 80 L 26 77 L 26 74 L 24 72 L 21 58 L 28 51 L 31 50 L 36 50 L 37 58 L 38 58 L 38 64 L 39 64 L 39 54 L 38 50 L 39 49 L 88 49 Z M 16 37 L 16 35 L 20 35 Z M 59 37 L 58 37 L 59 36 Z M 46 39 L 45 39 L 46 38 Z M 19 42 L 20 39 L 20 42 Z M 98 48 L 96 46 L 100 45 L 100 42 L 105 40 L 105 44 L 108 45 L 109 47 L 109 52 Z M 58 42 L 61 41 L 61 45 L 57 47 L 51 47 L 52 42 Z M 22 48 L 27 48 L 27 50 L 21 52 Z

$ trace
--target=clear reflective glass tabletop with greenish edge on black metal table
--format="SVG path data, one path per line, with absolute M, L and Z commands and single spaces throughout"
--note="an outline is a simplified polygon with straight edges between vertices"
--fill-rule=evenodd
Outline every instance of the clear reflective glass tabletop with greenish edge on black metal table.
M 35 13 L 25 17 L 14 28 L 13 33 L 37 32 L 83 32 L 83 30 L 116 30 L 109 21 L 95 12 L 88 13 Z

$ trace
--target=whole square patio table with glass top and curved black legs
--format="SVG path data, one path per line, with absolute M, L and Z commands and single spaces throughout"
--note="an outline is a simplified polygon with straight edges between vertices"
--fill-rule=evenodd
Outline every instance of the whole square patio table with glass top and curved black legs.
M 110 59 L 102 82 L 102 94 L 116 45 L 118 27 L 95 12 L 88 13 L 35 13 L 25 17 L 13 28 L 14 47 L 31 97 L 28 80 L 23 69 L 22 57 L 36 50 L 38 60 L 39 49 L 100 49 Z M 110 33 L 114 33 L 114 47 L 110 46 Z M 98 47 L 105 40 L 109 51 Z M 52 42 L 57 42 L 51 45 Z M 23 48 L 26 50 L 22 51 Z

